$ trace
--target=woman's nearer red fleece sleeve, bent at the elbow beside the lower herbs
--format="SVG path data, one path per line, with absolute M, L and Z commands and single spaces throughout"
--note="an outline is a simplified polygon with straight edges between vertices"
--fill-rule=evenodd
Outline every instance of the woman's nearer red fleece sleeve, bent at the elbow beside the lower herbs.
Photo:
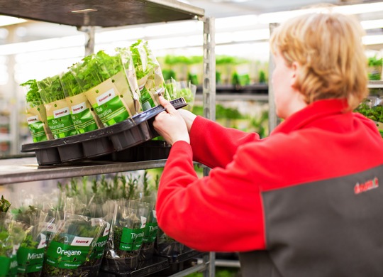
M 200 251 L 265 249 L 260 190 L 248 176 L 247 162 L 212 169 L 199 179 L 191 158 L 189 143 L 173 144 L 158 189 L 160 228 Z

